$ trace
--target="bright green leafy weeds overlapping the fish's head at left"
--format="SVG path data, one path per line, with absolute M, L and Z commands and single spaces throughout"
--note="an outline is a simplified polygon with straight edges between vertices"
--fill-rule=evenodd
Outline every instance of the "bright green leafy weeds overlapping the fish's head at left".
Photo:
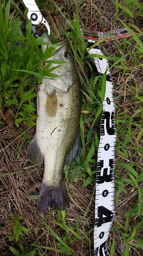
M 44 44 L 44 37 L 35 38 L 31 20 L 24 33 L 18 13 L 9 21 L 10 1 L 4 6 L 0 4 L 0 14 L 0 44 L 3 46 L 0 50 L 0 109 L 2 110 L 3 105 L 7 110 L 12 109 L 11 114 L 17 127 L 20 122 L 32 126 L 36 124 L 37 118 L 34 101 L 37 93 L 34 91 L 42 83 L 43 76 L 51 79 L 57 76 L 52 73 L 53 68 L 50 68 L 52 61 L 45 68 L 42 67 L 56 45 L 47 48 L 44 53 L 39 50 L 39 46 Z

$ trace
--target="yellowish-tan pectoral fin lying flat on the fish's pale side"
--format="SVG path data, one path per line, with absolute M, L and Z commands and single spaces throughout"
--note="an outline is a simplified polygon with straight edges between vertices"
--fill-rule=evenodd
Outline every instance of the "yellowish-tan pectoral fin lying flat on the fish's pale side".
M 47 95 L 46 113 L 49 117 L 55 117 L 57 112 L 57 98 L 56 94 Z

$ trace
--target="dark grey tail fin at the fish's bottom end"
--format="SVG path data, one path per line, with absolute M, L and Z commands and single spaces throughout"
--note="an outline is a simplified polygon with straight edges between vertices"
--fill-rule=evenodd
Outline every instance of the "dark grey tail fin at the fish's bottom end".
M 42 181 L 37 212 L 40 214 L 41 212 L 49 211 L 50 208 L 58 210 L 70 208 L 64 179 L 56 185 Z

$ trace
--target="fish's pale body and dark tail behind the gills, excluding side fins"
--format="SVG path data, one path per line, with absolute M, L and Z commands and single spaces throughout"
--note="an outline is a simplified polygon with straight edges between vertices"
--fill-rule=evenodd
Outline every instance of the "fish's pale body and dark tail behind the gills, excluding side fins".
M 38 93 L 36 140 L 44 157 L 44 176 L 38 201 L 38 212 L 49 208 L 69 207 L 63 179 L 65 159 L 77 135 L 80 116 L 80 89 L 75 84 L 68 93 L 56 93 L 57 110 L 54 117 L 46 111 L 46 87 Z

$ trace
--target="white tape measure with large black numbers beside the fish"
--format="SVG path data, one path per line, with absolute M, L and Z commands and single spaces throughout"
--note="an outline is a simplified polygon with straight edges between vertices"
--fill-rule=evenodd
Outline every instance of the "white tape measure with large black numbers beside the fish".
M 95 41 L 89 38 L 88 44 L 91 46 L 95 44 Z M 89 50 L 89 53 L 104 56 L 99 46 Z M 115 143 L 117 138 L 115 130 L 115 105 L 113 102 L 112 80 L 108 61 L 105 58 L 94 58 L 94 61 L 100 76 L 107 70 L 97 159 L 94 256 L 109 256 L 106 243 L 110 227 L 115 217 L 114 166 Z

